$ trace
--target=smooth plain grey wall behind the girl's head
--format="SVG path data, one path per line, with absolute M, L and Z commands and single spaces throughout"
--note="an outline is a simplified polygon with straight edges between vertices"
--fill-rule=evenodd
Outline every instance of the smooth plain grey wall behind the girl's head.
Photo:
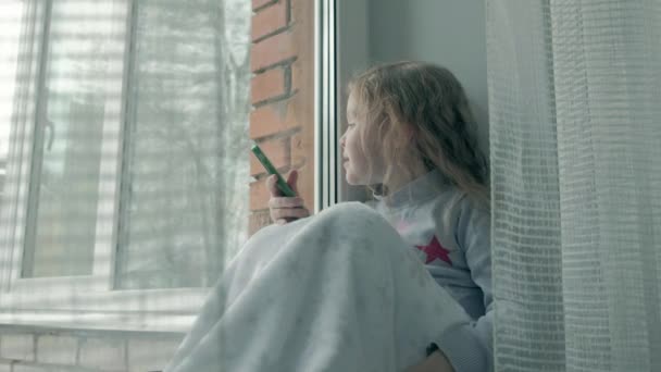
M 347 89 L 353 76 L 374 65 L 424 61 L 448 69 L 459 79 L 476 121 L 481 150 L 488 156 L 484 1 L 358 0 L 338 7 L 338 136 L 346 131 Z M 465 32 L 458 35 L 457 29 Z M 339 148 L 337 156 L 341 160 Z M 372 199 L 366 187 L 347 184 L 341 161 L 338 169 L 340 201 Z

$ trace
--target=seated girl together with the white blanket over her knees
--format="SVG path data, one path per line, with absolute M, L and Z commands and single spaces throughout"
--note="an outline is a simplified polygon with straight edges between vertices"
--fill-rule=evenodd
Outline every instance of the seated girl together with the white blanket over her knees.
M 247 241 L 166 371 L 491 369 L 487 174 L 461 85 L 381 65 L 351 82 L 347 119 L 346 178 L 372 208 L 307 218 L 269 178 L 277 224 Z

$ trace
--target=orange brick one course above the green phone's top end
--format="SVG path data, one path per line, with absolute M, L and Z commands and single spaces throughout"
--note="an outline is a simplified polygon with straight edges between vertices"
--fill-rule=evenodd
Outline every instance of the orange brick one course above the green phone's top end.
M 250 138 L 252 139 L 272 136 L 296 127 L 300 127 L 300 123 L 290 98 L 260 107 L 250 113 Z

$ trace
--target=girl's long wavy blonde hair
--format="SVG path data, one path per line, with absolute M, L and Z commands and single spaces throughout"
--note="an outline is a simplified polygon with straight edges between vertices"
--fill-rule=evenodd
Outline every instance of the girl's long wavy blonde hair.
M 378 141 L 388 185 L 403 159 L 420 159 L 439 170 L 472 199 L 488 204 L 488 170 L 477 147 L 475 120 L 463 87 L 447 69 L 425 62 L 397 62 L 369 69 L 349 83 L 367 125 L 367 140 Z M 411 171 L 413 172 L 413 171 Z M 374 185 L 387 196 L 383 185 Z

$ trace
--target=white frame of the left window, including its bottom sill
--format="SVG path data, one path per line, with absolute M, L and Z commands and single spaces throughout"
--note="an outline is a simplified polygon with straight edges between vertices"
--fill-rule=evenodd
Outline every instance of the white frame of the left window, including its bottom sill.
M 126 5 L 117 1 L 113 11 L 126 15 L 125 58 L 122 66 L 121 83 L 122 100 L 120 107 L 107 108 L 107 114 L 113 109 L 122 112 L 120 120 L 113 125 L 104 122 L 102 153 L 116 154 L 102 157 L 100 174 L 111 176 L 114 183 L 100 183 L 98 215 L 112 215 L 112 219 L 98 219 L 97 239 L 95 244 L 95 260 L 91 275 L 23 278 L 24 234 L 28 215 L 28 194 L 30 178 L 35 177 L 32 162 L 35 142 L 40 144 L 39 136 L 43 134 L 35 117 L 39 104 L 39 87 L 43 86 L 40 69 L 45 65 L 45 51 L 48 48 L 49 13 L 53 0 L 26 1 L 26 12 L 34 18 L 28 37 L 40 38 L 38 42 L 29 42 L 27 51 L 32 63 L 25 70 L 29 84 L 22 91 L 23 104 L 17 117 L 24 117 L 12 123 L 11 138 L 22 138 L 10 144 L 5 193 L 2 195 L 2 211 L 0 221 L 0 324 L 42 325 L 66 328 L 101 328 L 122 331 L 166 331 L 185 332 L 189 328 L 199 312 L 209 288 L 176 288 L 176 289 L 114 289 L 114 255 L 117 241 L 117 216 L 120 206 L 121 165 L 122 165 L 122 128 L 125 125 L 127 69 L 130 61 L 133 41 L 133 14 L 136 2 L 127 0 Z M 40 27 L 42 26 L 42 28 Z M 27 27 L 27 25 L 24 25 Z M 36 46 L 39 48 L 37 49 Z M 25 76 L 25 75 L 23 75 Z M 120 84 L 119 84 L 120 85 Z M 116 91 L 115 91 L 116 92 Z M 37 97 L 37 99 L 25 99 Z M 21 99 L 21 97 L 18 97 Z M 17 106 L 16 106 L 17 107 Z M 120 111 L 121 110 L 121 111 Z M 41 131 L 42 132 L 42 131 Z M 120 134 L 117 136 L 116 134 Z M 39 149 L 37 149 L 39 151 Z M 33 174 L 30 174 L 30 172 Z M 34 185 L 34 183 L 33 183 Z M 12 222 L 12 223 L 9 223 Z M 111 237 L 111 238 L 102 238 Z M 38 301 L 35 300 L 38 298 Z M 36 305 L 38 303 L 38 305 Z

